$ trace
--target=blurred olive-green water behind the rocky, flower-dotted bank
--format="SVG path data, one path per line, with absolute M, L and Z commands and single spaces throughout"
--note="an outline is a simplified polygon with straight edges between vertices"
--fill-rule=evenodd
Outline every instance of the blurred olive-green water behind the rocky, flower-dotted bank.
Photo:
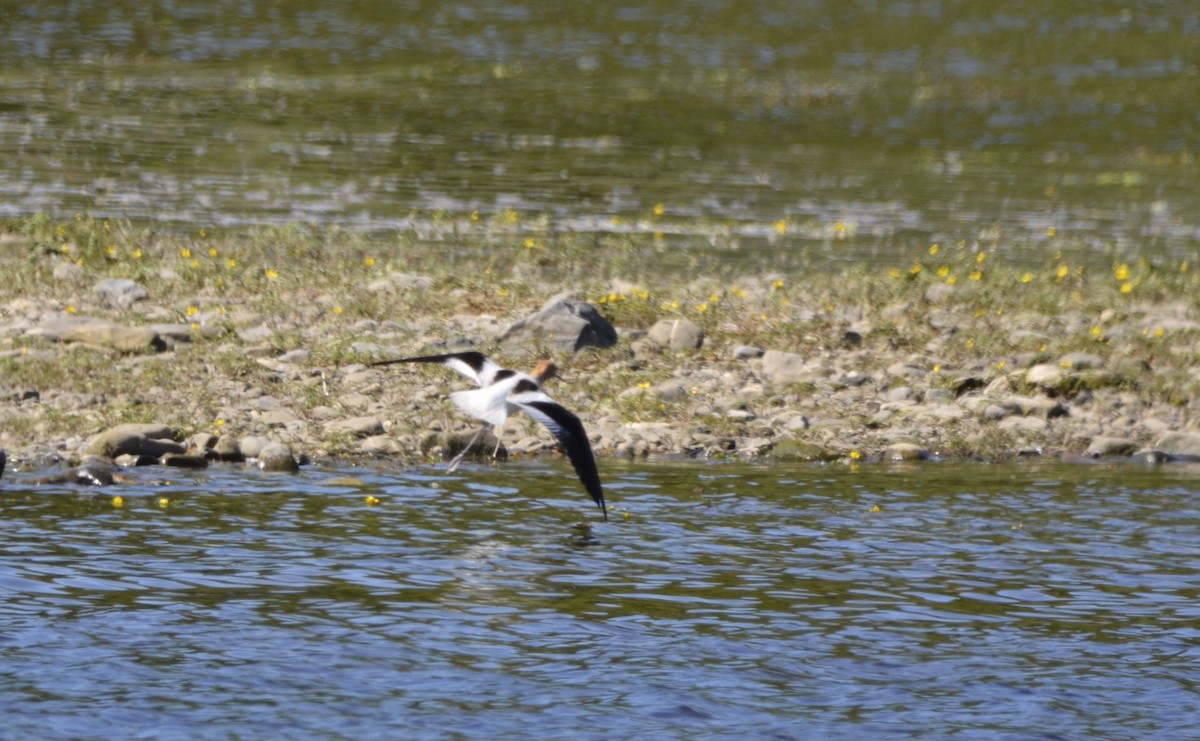
M 1178 261 L 1198 42 L 1150 0 L 47 0 L 0 24 L 0 216 Z

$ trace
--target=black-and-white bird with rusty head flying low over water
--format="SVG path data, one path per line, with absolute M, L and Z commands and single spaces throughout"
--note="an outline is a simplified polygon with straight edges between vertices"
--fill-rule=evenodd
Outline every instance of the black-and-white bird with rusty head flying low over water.
M 521 373 L 504 368 L 482 353 L 472 350 L 444 355 L 397 357 L 370 365 L 391 366 L 396 363 L 438 363 L 457 370 L 479 386 L 479 388 L 450 393 L 450 400 L 476 420 L 482 420 L 484 427 L 475 433 L 467 447 L 450 462 L 448 472 L 452 472 L 458 466 L 467 451 L 488 428 L 499 433 L 510 412 L 523 411 L 554 435 L 554 439 L 566 451 L 566 457 L 575 468 L 583 488 L 592 496 L 592 501 L 600 507 L 605 520 L 608 519 L 608 510 L 604 501 L 604 487 L 600 483 L 600 471 L 596 469 L 595 456 L 592 454 L 592 444 L 588 442 L 583 422 L 572 411 L 541 391 L 542 381 L 554 378 L 558 373 L 558 366 L 552 361 L 544 360 L 530 373 Z M 499 450 L 500 444 L 497 440 L 496 452 L 498 453 Z

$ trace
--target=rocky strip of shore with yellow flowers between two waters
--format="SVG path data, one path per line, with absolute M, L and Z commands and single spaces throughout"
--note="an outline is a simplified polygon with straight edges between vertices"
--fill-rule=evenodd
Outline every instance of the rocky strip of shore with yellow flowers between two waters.
M 497 314 L 449 313 L 445 277 L 396 270 L 353 295 L 330 283 L 269 297 L 180 296 L 179 276 L 157 275 L 148 287 L 64 261 L 41 273 L 41 295 L 0 301 L 10 470 L 107 483 L 96 471 L 110 464 L 439 459 L 475 430 L 445 398 L 464 381 L 367 363 L 468 348 L 517 368 L 553 356 L 564 378 L 547 391 L 599 456 L 1200 460 L 1200 320 L 1170 291 L 1120 311 L 1003 314 L 977 308 L 973 287 L 911 276 L 893 275 L 883 297 L 868 282 L 811 300 L 786 276 L 719 293 L 695 279 L 674 290 L 703 300 L 684 303 L 610 279 L 607 291 L 542 285 Z M 362 296 L 404 314 L 348 317 Z M 469 307 L 470 289 L 449 300 Z M 554 454 L 524 418 L 502 438 L 510 456 Z

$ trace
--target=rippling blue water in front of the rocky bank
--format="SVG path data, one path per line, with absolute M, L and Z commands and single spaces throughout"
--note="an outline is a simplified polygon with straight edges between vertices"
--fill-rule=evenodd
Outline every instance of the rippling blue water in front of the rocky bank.
M 4 735 L 1194 737 L 1195 468 L 602 463 L 10 471 Z

